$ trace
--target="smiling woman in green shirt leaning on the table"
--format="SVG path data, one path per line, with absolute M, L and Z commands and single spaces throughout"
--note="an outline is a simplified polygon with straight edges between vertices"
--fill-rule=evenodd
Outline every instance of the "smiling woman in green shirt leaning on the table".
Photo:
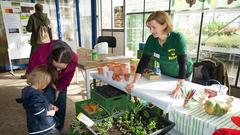
M 146 41 L 134 79 L 126 86 L 126 90 L 129 93 L 132 91 L 147 68 L 150 58 L 154 57 L 160 63 L 162 74 L 178 78 L 177 86 L 171 94 L 174 98 L 179 98 L 182 95 L 181 87 L 184 81 L 191 81 L 192 77 L 193 63 L 187 56 L 186 41 L 181 33 L 173 31 L 170 17 L 166 12 L 152 13 L 146 25 L 152 34 Z

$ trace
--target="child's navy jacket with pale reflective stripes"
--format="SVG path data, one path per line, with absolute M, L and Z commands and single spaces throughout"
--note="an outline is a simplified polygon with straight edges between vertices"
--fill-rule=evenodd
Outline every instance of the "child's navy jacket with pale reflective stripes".
M 49 102 L 41 91 L 30 86 L 22 90 L 23 107 L 27 114 L 29 134 L 48 134 L 54 132 L 56 122 L 54 117 L 46 116 L 50 110 Z

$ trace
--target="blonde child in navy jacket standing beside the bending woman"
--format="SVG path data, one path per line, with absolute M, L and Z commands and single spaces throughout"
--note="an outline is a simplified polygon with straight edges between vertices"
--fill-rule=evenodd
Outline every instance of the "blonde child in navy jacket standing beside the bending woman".
M 22 89 L 22 103 L 27 114 L 29 134 L 57 134 L 54 115 L 58 108 L 50 104 L 43 95 L 43 89 L 51 82 L 46 67 L 35 68 L 27 77 L 29 86 Z

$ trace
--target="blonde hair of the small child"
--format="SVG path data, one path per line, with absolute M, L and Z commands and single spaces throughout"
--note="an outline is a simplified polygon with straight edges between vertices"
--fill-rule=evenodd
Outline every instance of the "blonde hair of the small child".
M 34 85 L 37 89 L 43 89 L 51 81 L 51 75 L 49 74 L 47 67 L 40 66 L 27 76 L 27 84 Z

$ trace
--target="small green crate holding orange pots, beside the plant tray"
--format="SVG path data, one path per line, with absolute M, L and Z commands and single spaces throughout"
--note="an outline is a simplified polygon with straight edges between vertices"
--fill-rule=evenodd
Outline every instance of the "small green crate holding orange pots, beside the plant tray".
M 83 106 L 85 105 L 97 105 L 98 109 L 95 113 L 93 114 L 89 114 L 88 112 L 86 112 L 85 110 L 83 110 Z M 80 102 L 76 102 L 75 103 L 75 110 L 76 110 L 76 116 L 82 112 L 83 114 L 87 115 L 89 118 L 91 118 L 92 120 L 100 120 L 106 117 L 109 117 L 109 113 L 99 104 L 97 104 L 96 102 L 94 102 L 91 99 L 88 100 L 84 100 L 84 101 L 80 101 Z

